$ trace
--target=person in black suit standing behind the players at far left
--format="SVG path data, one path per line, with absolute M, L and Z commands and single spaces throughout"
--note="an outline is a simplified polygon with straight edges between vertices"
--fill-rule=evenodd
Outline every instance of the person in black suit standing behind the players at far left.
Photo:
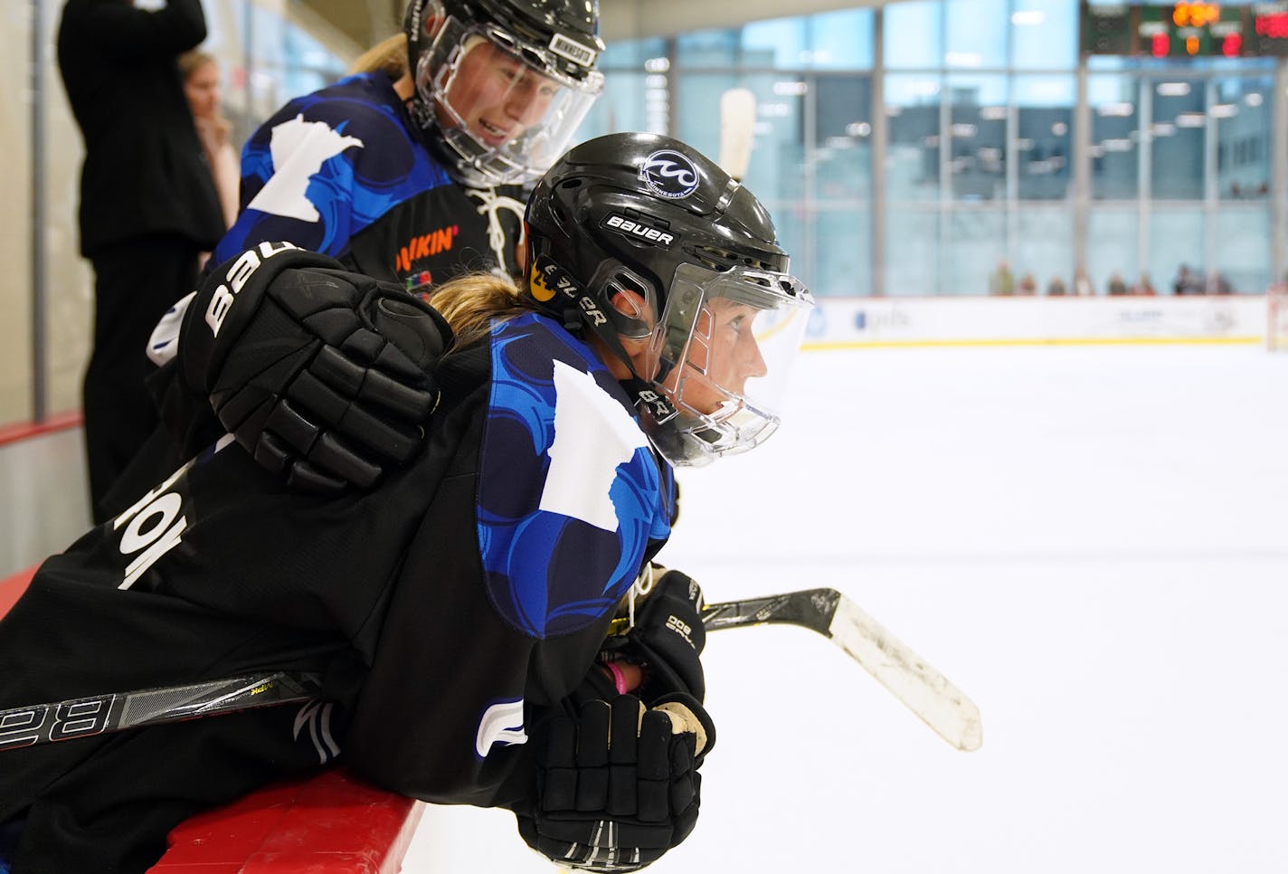
M 95 522 L 157 422 L 144 388 L 152 327 L 196 286 L 198 253 L 224 231 L 176 63 L 204 39 L 201 0 L 155 12 L 68 0 L 58 28 L 58 67 L 85 139 L 80 235 L 95 308 L 84 411 Z

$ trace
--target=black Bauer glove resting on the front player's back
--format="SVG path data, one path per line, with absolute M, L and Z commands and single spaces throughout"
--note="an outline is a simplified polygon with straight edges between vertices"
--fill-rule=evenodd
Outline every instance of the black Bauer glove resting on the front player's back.
M 332 258 L 263 244 L 220 264 L 179 339 L 188 385 L 259 464 L 316 494 L 367 489 L 420 449 L 443 317 Z

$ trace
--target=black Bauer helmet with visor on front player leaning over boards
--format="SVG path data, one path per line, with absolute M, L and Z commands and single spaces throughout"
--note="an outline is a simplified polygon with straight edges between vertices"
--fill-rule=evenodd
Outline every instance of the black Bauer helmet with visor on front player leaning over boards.
M 550 168 L 527 226 L 524 295 L 625 362 L 668 461 L 774 432 L 813 299 L 750 191 L 679 141 L 609 134 Z

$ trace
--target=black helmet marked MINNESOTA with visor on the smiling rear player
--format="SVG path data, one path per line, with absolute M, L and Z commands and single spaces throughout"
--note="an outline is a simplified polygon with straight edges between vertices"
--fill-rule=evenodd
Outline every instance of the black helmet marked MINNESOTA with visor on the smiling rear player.
M 466 184 L 523 182 L 604 88 L 598 0 L 412 0 L 411 115 Z

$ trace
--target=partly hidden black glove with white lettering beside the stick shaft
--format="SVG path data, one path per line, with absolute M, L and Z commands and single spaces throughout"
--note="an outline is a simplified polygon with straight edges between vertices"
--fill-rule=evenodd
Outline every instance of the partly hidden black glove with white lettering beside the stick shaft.
M 674 692 L 702 701 L 707 685 L 699 656 L 706 642 L 702 588 L 687 574 L 665 571 L 636 602 L 635 625 L 625 636 L 608 638 L 604 657 L 626 659 L 644 669 L 638 695 L 649 705 Z

